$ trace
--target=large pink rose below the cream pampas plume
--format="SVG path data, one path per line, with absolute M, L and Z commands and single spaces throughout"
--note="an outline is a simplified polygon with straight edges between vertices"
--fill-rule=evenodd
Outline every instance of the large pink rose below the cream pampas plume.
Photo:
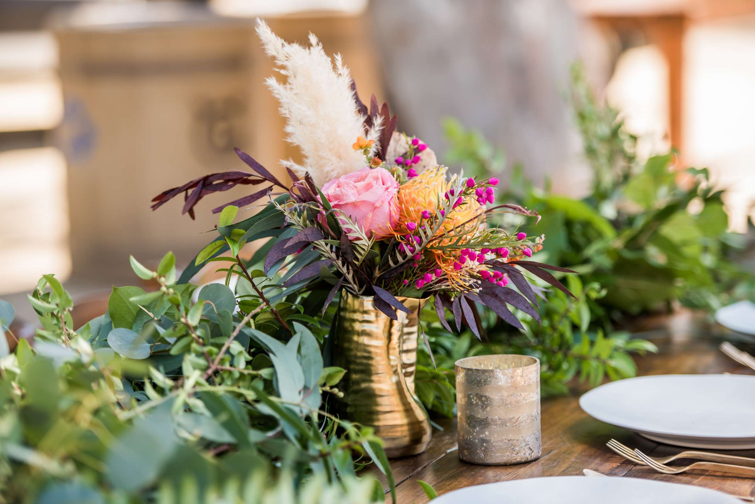
M 399 183 L 385 168 L 362 168 L 331 180 L 322 194 L 347 214 L 370 237 L 385 238 L 399 217 L 396 195 Z

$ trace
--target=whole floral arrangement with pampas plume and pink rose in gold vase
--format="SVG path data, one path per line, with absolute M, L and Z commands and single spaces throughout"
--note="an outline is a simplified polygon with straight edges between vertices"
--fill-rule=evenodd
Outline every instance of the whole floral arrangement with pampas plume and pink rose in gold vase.
M 374 426 L 389 455 L 420 453 L 430 439 L 426 415 L 412 397 L 421 307 L 433 297 L 448 330 L 445 309 L 457 329 L 467 324 L 477 337 L 476 304 L 522 328 L 515 312 L 539 320 L 541 293 L 523 272 L 569 293 L 547 271 L 569 270 L 530 260 L 544 236 L 489 226 L 488 217 L 497 212 L 535 222 L 540 216 L 516 204 L 495 204 L 497 179 L 450 173 L 427 143 L 396 131 L 387 104 L 378 106 L 374 95 L 369 107 L 362 103 L 341 57 L 331 60 L 314 35 L 304 47 L 286 43 L 262 22 L 257 32 L 286 79 L 271 77 L 267 85 L 287 120 L 288 141 L 304 157 L 301 164 L 282 161 L 291 185 L 236 149 L 251 172 L 199 177 L 156 196 L 153 209 L 183 193 L 183 213 L 194 217 L 206 195 L 239 184 L 263 186 L 214 209 L 221 213 L 220 239 L 198 254 L 182 280 L 207 261 L 229 260 L 220 254 L 230 250 L 228 278 L 241 275 L 254 286 L 255 276 L 285 269 L 284 296 L 323 281 L 333 284 L 322 310 L 341 294 L 325 345 L 326 358 L 347 370 L 341 414 Z M 267 207 L 233 223 L 238 207 L 263 198 L 270 199 Z M 263 270 L 252 275 L 239 250 L 263 237 L 273 244 Z M 267 301 L 263 289 L 254 288 Z

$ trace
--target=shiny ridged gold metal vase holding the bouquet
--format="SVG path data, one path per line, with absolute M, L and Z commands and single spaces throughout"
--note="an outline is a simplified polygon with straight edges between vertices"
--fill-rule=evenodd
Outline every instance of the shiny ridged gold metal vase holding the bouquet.
M 430 423 L 414 396 L 418 312 L 427 300 L 399 297 L 411 313 L 396 310 L 394 321 L 374 307 L 372 297 L 341 293 L 333 340 L 333 364 L 347 370 L 338 389 L 341 418 L 374 428 L 387 456 L 422 453 Z

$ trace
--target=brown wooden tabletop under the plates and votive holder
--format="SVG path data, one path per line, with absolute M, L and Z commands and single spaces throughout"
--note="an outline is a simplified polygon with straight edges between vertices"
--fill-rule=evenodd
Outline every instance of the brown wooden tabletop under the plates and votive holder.
M 661 318 L 660 327 L 641 334 L 642 337 L 652 340 L 658 346 L 659 352 L 636 358 L 637 375 L 755 374 L 749 367 L 737 364 L 720 352 L 720 343 L 732 336 L 720 333 L 720 329 L 705 324 L 699 317 L 681 323 L 668 317 Z M 755 349 L 752 343 L 748 346 L 746 341 L 737 341 L 736 337 L 734 340 L 735 346 L 741 349 L 749 349 L 750 352 Z M 427 450 L 417 456 L 390 461 L 396 481 L 396 502 L 428 502 L 430 499 L 418 481 L 427 482 L 438 495 L 442 495 L 458 488 L 496 481 L 583 475 L 584 469 L 592 469 L 614 477 L 650 478 L 698 485 L 740 496 L 755 496 L 755 478 L 705 470 L 664 475 L 647 466 L 636 465 L 609 450 L 606 442 L 611 438 L 628 447 L 638 448 L 649 456 L 668 456 L 689 448 L 659 444 L 634 432 L 593 419 L 584 413 L 578 404 L 581 393 L 586 390 L 584 384 L 575 383 L 568 396 L 542 399 L 542 455 L 534 462 L 514 466 L 477 466 L 462 462 L 457 449 L 456 419 L 433 418 L 433 422 L 442 430 L 433 429 L 433 439 Z M 743 401 L 747 400 L 755 401 L 755 398 L 743 398 Z M 716 404 L 710 404 L 710 407 L 715 408 Z M 725 425 L 725 419 L 722 419 L 722 426 Z M 755 457 L 755 450 L 704 451 Z M 675 464 L 679 462 L 672 463 Z M 368 467 L 362 472 L 365 473 L 380 479 L 386 490 L 386 502 L 391 502 L 387 478 L 374 467 Z

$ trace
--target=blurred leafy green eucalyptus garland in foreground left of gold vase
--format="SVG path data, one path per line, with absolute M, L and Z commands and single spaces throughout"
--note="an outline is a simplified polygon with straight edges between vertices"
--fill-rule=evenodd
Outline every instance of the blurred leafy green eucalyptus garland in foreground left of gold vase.
M 323 366 L 322 334 L 269 316 L 307 297 L 195 294 L 173 254 L 131 266 L 159 290 L 114 287 L 78 330 L 53 276 L 29 296 L 42 329 L 0 360 L 0 502 L 383 502 L 356 477 L 372 461 L 393 481 L 382 441 L 322 399 L 344 376 Z

